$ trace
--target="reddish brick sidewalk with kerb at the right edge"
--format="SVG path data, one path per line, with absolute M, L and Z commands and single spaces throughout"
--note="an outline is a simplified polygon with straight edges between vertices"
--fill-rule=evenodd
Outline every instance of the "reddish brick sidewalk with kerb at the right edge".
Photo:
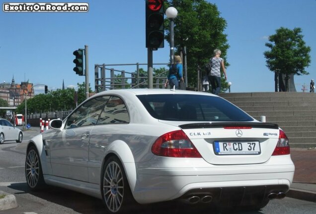
M 291 148 L 294 179 L 287 197 L 316 202 L 316 148 Z

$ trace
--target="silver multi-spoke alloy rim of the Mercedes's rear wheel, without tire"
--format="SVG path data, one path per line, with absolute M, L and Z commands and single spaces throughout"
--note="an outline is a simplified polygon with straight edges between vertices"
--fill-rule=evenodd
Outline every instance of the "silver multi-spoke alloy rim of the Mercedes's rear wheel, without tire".
M 124 196 L 124 181 L 120 165 L 109 162 L 104 171 L 103 177 L 104 202 L 107 208 L 115 213 L 122 205 Z

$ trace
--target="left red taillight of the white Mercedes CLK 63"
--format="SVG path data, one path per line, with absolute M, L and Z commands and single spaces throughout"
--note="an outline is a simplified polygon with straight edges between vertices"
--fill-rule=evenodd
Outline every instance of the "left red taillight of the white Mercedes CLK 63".
M 158 137 L 152 146 L 152 153 L 173 158 L 202 158 L 182 130 L 168 132 Z

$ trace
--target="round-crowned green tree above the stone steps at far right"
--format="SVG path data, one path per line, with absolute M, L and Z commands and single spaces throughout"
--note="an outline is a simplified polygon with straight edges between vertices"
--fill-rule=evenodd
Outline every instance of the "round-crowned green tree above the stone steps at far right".
M 286 91 L 289 91 L 289 75 L 309 74 L 305 68 L 311 63 L 311 48 L 303 40 L 302 29 L 281 27 L 265 44 L 270 51 L 264 52 L 267 67 L 273 72 L 285 74 Z

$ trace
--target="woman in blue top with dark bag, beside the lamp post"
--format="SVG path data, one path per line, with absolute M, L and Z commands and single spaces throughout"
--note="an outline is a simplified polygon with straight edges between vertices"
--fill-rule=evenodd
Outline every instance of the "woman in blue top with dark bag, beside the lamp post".
M 169 68 L 169 73 L 167 76 L 167 81 L 164 84 L 164 87 L 167 87 L 168 83 L 170 88 L 172 89 L 175 86 L 175 89 L 179 88 L 179 79 L 183 82 L 183 74 L 182 74 L 182 60 L 179 55 L 174 56 L 175 64 L 171 65 Z

